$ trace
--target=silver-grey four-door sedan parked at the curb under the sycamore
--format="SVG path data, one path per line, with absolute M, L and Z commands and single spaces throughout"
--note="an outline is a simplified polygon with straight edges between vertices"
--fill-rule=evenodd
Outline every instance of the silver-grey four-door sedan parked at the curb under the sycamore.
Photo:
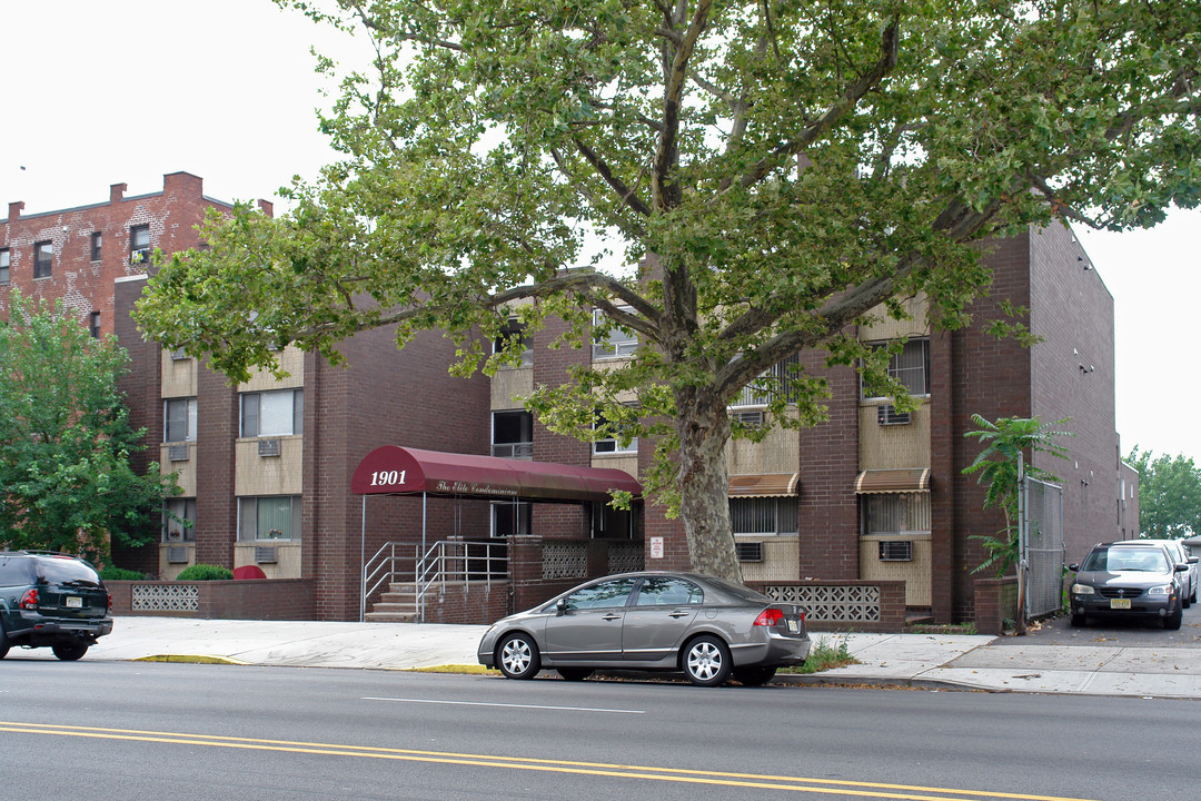
M 809 653 L 805 612 L 753 590 L 693 573 L 622 573 L 596 579 L 484 634 L 479 663 L 509 679 L 554 668 L 579 681 L 593 670 L 682 671 L 716 687 L 771 681 Z

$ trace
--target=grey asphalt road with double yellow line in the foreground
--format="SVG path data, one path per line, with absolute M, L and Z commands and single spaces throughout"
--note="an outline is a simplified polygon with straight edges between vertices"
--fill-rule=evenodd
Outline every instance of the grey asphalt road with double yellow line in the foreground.
M 5 799 L 1190 799 L 1201 749 L 1189 701 L 88 660 L 0 677 Z

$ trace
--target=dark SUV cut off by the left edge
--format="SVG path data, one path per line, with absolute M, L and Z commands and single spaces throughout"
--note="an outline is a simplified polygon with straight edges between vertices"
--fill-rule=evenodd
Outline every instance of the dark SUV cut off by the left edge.
M 0 551 L 0 659 L 14 645 L 78 659 L 113 630 L 112 606 L 96 568 L 77 556 Z

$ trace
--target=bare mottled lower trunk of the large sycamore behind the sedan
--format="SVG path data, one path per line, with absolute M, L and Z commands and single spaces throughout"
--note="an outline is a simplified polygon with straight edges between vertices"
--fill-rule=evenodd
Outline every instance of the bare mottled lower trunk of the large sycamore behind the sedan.
M 742 582 L 734 536 L 730 532 L 729 476 L 725 446 L 730 440 L 730 420 L 725 407 L 716 410 L 692 402 L 677 418 L 680 436 L 680 516 L 688 538 L 692 569 Z

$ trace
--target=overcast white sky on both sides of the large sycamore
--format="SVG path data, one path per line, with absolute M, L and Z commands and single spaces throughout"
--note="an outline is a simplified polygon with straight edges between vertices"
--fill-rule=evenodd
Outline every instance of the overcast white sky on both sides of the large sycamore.
M 13 201 L 25 214 L 107 202 L 119 183 L 154 192 L 177 171 L 210 197 L 277 201 L 334 155 L 317 132 L 325 82 L 309 48 L 369 55 L 270 0 L 0 0 L 0 214 Z M 1080 235 L 1113 294 L 1123 453 L 1201 462 L 1201 378 L 1181 361 L 1196 339 L 1201 211 Z

